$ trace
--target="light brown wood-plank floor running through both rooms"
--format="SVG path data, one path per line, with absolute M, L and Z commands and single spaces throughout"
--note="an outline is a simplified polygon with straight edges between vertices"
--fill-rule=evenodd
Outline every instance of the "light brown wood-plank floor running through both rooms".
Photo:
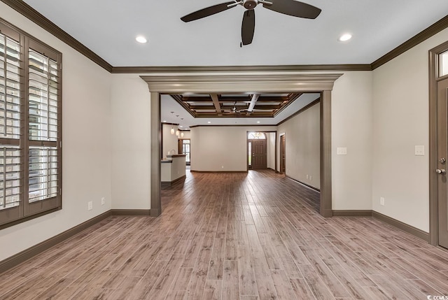
M 323 218 L 273 171 L 187 173 L 160 217 L 109 217 L 0 275 L 0 299 L 427 299 L 448 251 L 371 217 Z

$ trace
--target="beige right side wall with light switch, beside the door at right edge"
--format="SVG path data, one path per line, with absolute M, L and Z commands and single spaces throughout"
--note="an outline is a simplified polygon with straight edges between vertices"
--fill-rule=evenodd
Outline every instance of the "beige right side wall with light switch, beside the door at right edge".
M 372 206 L 423 231 L 429 231 L 428 50 L 447 40 L 444 29 L 373 71 Z M 415 145 L 425 146 L 424 156 L 414 155 Z

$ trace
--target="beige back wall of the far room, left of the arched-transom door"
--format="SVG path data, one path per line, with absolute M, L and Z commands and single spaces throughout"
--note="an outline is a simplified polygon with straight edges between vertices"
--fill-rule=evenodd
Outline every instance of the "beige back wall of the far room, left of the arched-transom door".
M 275 131 L 276 127 L 193 127 L 192 171 L 246 171 L 247 131 Z

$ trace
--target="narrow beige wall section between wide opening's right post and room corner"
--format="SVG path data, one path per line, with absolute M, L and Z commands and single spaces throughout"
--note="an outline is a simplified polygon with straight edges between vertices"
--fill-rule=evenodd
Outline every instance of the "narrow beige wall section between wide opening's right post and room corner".
M 332 209 L 372 209 L 372 72 L 345 72 L 332 90 Z M 337 155 L 347 148 L 347 155 Z

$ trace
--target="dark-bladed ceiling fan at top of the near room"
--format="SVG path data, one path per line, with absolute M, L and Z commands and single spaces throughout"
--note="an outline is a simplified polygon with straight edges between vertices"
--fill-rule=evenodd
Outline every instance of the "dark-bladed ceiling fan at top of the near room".
M 304 17 L 307 19 L 316 19 L 322 11 L 320 8 L 316 8 L 315 6 L 295 0 L 235 0 L 197 10 L 194 13 L 181 17 L 181 20 L 183 22 L 191 22 L 202 19 L 202 17 L 208 17 L 209 15 L 221 13 L 221 11 L 228 10 L 229 8 L 237 5 L 244 6 L 246 11 L 244 11 L 243 22 L 241 24 L 240 46 L 242 47 L 242 45 L 252 43 L 253 32 L 255 31 L 255 10 L 253 9 L 259 3 L 262 3 L 264 8 L 274 10 L 277 13 L 292 15 L 293 17 Z

